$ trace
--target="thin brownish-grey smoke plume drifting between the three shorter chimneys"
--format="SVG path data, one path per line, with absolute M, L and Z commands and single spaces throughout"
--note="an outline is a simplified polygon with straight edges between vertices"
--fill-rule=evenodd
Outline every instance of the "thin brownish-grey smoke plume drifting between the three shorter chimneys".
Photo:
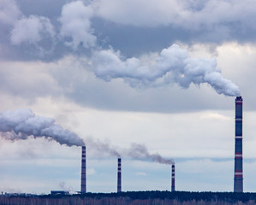
M 109 154 L 116 157 L 128 157 L 140 161 L 155 161 L 161 164 L 173 164 L 172 159 L 166 159 L 158 153 L 151 154 L 143 144 L 130 144 L 128 149 L 112 147 L 108 142 L 99 139 L 86 138 L 86 146 L 97 154 Z

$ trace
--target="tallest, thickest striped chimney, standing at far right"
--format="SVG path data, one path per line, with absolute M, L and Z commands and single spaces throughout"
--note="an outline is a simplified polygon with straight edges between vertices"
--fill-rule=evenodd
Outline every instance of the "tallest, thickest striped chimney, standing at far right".
M 243 191 L 242 178 L 242 98 L 235 98 L 235 178 L 234 192 Z

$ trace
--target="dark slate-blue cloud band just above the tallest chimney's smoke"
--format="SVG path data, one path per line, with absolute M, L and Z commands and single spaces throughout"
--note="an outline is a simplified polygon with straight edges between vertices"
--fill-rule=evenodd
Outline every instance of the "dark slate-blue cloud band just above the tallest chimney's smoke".
M 188 45 L 211 44 L 212 48 L 225 42 L 235 41 L 241 44 L 256 42 L 253 34 L 256 29 L 250 26 L 245 28 L 241 23 L 226 23 L 193 31 L 172 25 L 158 27 L 119 25 L 94 18 L 92 26 L 99 33 L 98 42 L 103 48 L 108 49 L 111 45 L 128 57 L 162 50 L 177 42 Z

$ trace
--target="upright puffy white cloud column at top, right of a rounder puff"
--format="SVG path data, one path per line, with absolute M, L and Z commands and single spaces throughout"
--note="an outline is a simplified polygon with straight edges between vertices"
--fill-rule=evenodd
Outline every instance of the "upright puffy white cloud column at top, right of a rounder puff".
M 96 36 L 93 35 L 90 19 L 93 10 L 85 6 L 81 1 L 67 3 L 63 6 L 60 35 L 66 45 L 76 50 L 81 44 L 84 48 L 93 47 L 96 44 Z M 71 38 L 67 40 L 66 38 Z

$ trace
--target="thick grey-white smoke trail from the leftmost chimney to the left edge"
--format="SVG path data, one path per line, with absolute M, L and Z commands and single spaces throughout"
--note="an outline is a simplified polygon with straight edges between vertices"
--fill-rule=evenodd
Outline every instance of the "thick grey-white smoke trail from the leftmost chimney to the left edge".
M 7 140 L 47 138 L 68 146 L 82 146 L 84 142 L 74 132 L 55 124 L 55 120 L 33 114 L 31 109 L 17 109 L 0 113 L 1 137 Z

